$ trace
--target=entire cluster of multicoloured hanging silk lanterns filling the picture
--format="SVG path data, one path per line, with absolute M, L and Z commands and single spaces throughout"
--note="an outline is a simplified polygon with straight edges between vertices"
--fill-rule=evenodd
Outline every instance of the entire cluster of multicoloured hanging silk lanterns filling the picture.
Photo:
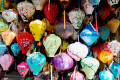
M 10 46 L 14 56 L 18 56 L 20 51 L 22 51 L 22 54 L 27 54 L 26 61 L 17 65 L 17 70 L 22 78 L 26 76 L 29 70 L 33 75 L 38 75 L 47 62 L 46 57 L 51 58 L 50 64 L 62 72 L 71 69 L 75 61 L 76 63 L 80 61 L 82 71 L 85 73 L 86 78 L 77 70 L 78 65 L 76 65 L 74 71 L 71 73 L 70 80 L 93 79 L 99 69 L 100 62 L 109 65 L 109 67 L 99 72 L 99 78 L 101 80 L 118 78 L 120 75 L 120 64 L 113 61 L 113 59 L 120 51 L 120 43 L 116 40 L 111 42 L 106 42 L 106 40 L 110 33 L 116 33 L 120 25 L 119 19 L 112 18 L 106 25 L 98 29 L 97 16 L 95 15 L 96 28 L 93 26 L 91 20 L 89 20 L 89 24 L 84 25 L 85 28 L 83 28 L 85 15 L 91 16 L 93 11 L 97 14 L 96 7 L 99 6 L 100 0 L 81 0 L 78 8 L 69 11 L 69 20 L 67 21 L 65 10 L 70 1 L 71 0 L 58 0 L 64 9 L 64 20 L 60 22 L 56 21 L 59 6 L 56 3 L 51 3 L 50 0 L 32 0 L 33 4 L 27 0 L 18 3 L 16 7 L 25 24 L 24 31 L 20 33 L 16 32 L 17 28 L 15 28 L 17 27 L 18 13 L 12 9 L 2 9 L 2 18 L 9 24 L 2 21 L 0 22 L 0 35 L 3 39 L 3 42 L 2 39 L 0 42 L 0 65 L 3 70 L 8 70 L 14 62 L 12 55 L 9 53 L 5 54 L 7 46 Z M 118 0 L 115 0 L 115 2 L 114 0 L 108 0 L 106 8 L 100 7 L 98 10 L 100 18 L 105 20 L 109 16 L 110 11 L 114 11 L 112 6 L 118 4 L 118 2 Z M 80 4 L 83 10 L 80 9 Z M 6 5 L 4 7 L 6 8 Z M 43 10 L 46 18 L 30 21 L 36 10 Z M 102 12 L 104 13 L 102 14 Z M 29 23 L 29 26 L 27 26 L 27 23 Z M 11 29 L 13 27 L 15 30 Z M 82 31 L 79 32 L 79 30 Z M 47 34 L 47 31 L 49 34 Z M 66 42 L 66 39 L 69 39 L 71 36 L 74 42 L 69 44 Z M 80 42 L 79 37 L 82 42 Z M 99 39 L 105 43 L 99 45 L 99 47 L 93 47 Z M 12 43 L 13 40 L 16 40 L 17 43 Z M 36 51 L 36 48 L 38 46 L 41 47 L 42 43 L 47 56 L 40 51 Z M 34 48 L 36 48 L 31 52 L 30 50 L 34 49 L 32 48 L 33 44 Z M 91 53 L 91 48 L 94 52 L 97 52 L 97 58 L 92 55 L 88 56 L 88 54 Z M 59 54 L 55 55 L 58 50 L 60 50 Z M 51 80 L 53 80 L 52 73 L 51 69 Z

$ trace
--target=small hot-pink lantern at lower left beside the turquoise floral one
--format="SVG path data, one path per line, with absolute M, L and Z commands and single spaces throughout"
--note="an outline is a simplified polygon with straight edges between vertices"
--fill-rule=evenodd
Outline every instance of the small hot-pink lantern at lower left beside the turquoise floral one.
M 21 62 L 17 65 L 17 70 L 20 73 L 21 77 L 24 78 L 29 71 L 29 66 L 26 62 Z

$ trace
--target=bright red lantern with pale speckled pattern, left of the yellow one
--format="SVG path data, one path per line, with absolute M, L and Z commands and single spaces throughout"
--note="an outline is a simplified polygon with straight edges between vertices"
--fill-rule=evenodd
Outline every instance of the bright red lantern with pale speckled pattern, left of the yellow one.
M 23 31 L 16 36 L 16 40 L 22 53 L 26 54 L 34 41 L 34 38 L 29 32 Z

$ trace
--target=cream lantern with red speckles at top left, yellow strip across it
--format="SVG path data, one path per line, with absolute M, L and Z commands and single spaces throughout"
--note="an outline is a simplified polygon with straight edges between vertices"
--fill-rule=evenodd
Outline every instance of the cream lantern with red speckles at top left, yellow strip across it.
M 35 7 L 30 2 L 20 2 L 17 4 L 17 10 L 24 22 L 27 22 L 35 13 Z

